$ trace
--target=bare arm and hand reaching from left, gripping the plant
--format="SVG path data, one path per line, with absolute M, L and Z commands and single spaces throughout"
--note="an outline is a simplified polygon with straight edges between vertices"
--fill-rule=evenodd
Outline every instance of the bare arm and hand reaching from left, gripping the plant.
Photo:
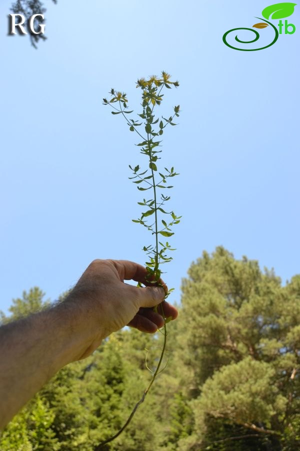
M 147 271 L 127 260 L 94 260 L 66 299 L 0 327 L 0 429 L 63 366 L 90 355 L 125 325 L 154 333 L 177 310 L 167 288 L 145 281 Z M 133 280 L 137 288 L 124 283 Z

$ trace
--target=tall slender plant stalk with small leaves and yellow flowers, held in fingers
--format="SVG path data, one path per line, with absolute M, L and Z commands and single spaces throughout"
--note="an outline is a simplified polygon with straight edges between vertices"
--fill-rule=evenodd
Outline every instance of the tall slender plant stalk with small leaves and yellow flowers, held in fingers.
M 163 125 L 162 121 L 160 121 L 159 123 L 159 130 L 157 133 L 155 133 L 152 129 L 152 122 L 153 122 L 153 117 L 152 116 L 152 112 L 153 112 L 153 108 L 154 105 L 160 104 L 161 102 L 161 98 L 160 97 L 160 93 L 161 90 L 164 86 L 166 86 L 167 88 L 169 88 L 170 84 L 174 85 L 175 87 L 178 86 L 178 82 L 171 82 L 169 80 L 170 76 L 168 74 L 166 74 L 165 72 L 161 73 L 162 78 L 161 79 L 157 79 L 156 77 L 151 77 L 148 81 L 144 80 L 144 79 L 140 79 L 137 82 L 137 85 L 139 87 L 142 88 L 143 90 L 143 95 L 142 95 L 142 107 L 143 107 L 143 111 L 142 114 L 139 114 L 140 117 L 142 117 L 145 122 L 145 132 L 147 133 L 147 137 L 144 138 L 142 136 L 141 133 L 138 132 L 138 130 L 136 129 L 136 127 L 138 127 L 139 125 L 141 125 L 141 123 L 138 123 L 137 121 L 134 121 L 133 119 L 131 119 L 130 121 L 127 119 L 126 114 L 128 114 L 128 111 L 126 111 L 126 103 L 127 103 L 127 99 L 126 99 L 126 94 L 122 94 L 120 92 L 115 92 L 113 89 L 111 89 L 110 94 L 112 96 L 112 99 L 110 101 L 103 99 L 103 103 L 104 105 L 110 105 L 115 112 L 113 112 L 113 114 L 122 114 L 122 116 L 124 117 L 124 119 L 126 120 L 126 123 L 129 125 L 129 129 L 130 131 L 135 131 L 141 138 L 142 138 L 142 142 L 139 143 L 138 145 L 141 146 L 141 153 L 142 154 L 146 154 L 149 158 L 149 168 L 151 170 L 151 175 L 149 176 L 144 176 L 144 178 L 141 177 L 141 175 L 145 174 L 145 172 L 142 172 L 140 174 L 138 174 L 139 171 L 139 166 L 137 165 L 134 169 L 130 167 L 130 169 L 132 169 L 134 177 L 130 177 L 130 178 L 138 178 L 139 180 L 142 180 L 143 182 L 146 182 L 148 185 L 150 185 L 150 187 L 153 188 L 153 194 L 154 194 L 154 199 L 150 199 L 149 201 L 145 201 L 145 199 L 143 200 L 143 203 L 138 202 L 140 205 L 146 205 L 150 208 L 150 210 L 146 211 L 145 213 L 142 213 L 141 219 L 138 220 L 133 220 L 134 222 L 140 222 L 142 225 L 144 225 L 150 232 L 152 232 L 152 234 L 155 234 L 155 250 L 154 248 L 152 248 L 152 246 L 149 246 L 148 248 L 144 247 L 144 251 L 146 251 L 147 255 L 150 255 L 150 263 L 146 263 L 146 269 L 148 271 L 148 275 L 146 276 L 146 280 L 147 282 L 151 282 L 151 283 L 155 283 L 156 285 L 159 285 L 159 280 L 160 280 L 160 270 L 158 269 L 159 264 L 161 263 L 166 263 L 168 261 L 171 260 L 170 257 L 167 257 L 165 255 L 163 255 L 163 253 L 166 250 L 171 250 L 173 251 L 173 249 L 171 249 L 170 245 L 168 245 L 168 243 L 166 243 L 165 245 L 163 245 L 162 243 L 159 242 L 159 244 L 162 246 L 161 250 L 158 250 L 158 234 L 161 234 L 164 237 L 169 237 L 171 235 L 173 235 L 173 233 L 169 233 L 167 231 L 169 231 L 171 225 L 176 224 L 179 222 L 179 218 L 181 216 L 175 216 L 175 214 L 171 211 L 170 213 L 167 213 L 165 211 L 163 211 L 161 209 L 161 205 L 164 204 L 164 202 L 166 200 L 168 200 L 170 197 L 167 196 L 163 196 L 161 194 L 161 199 L 162 201 L 157 203 L 157 193 L 156 193 L 156 187 L 161 188 L 162 186 L 159 186 L 161 182 L 165 183 L 165 179 L 174 175 L 178 175 L 175 172 L 173 172 L 173 168 L 171 168 L 171 170 L 169 171 L 168 169 L 166 169 L 166 171 L 168 172 L 168 174 L 162 175 L 160 173 L 160 176 L 162 176 L 163 178 L 161 179 L 161 181 L 159 183 L 155 184 L 155 176 L 154 176 L 154 172 L 157 171 L 157 167 L 156 164 L 154 163 L 154 161 L 157 160 L 157 157 L 155 156 L 155 154 L 158 152 L 157 150 L 155 150 L 155 146 L 157 146 L 159 144 L 159 141 L 157 142 L 153 142 L 152 141 L 152 137 L 151 136 L 158 136 L 161 135 L 162 129 L 165 128 L 165 126 L 167 124 L 171 124 L 171 125 L 175 125 L 172 123 L 172 119 L 173 117 L 176 115 L 178 116 L 178 111 L 179 111 L 179 105 L 174 107 L 174 114 L 172 116 L 169 117 L 169 119 L 164 119 L 165 124 Z M 152 83 L 154 83 L 154 88 L 152 88 Z M 156 94 L 156 88 L 160 87 L 158 94 Z M 154 100 L 154 101 L 153 101 Z M 119 104 L 119 109 L 117 109 L 114 105 L 112 105 L 112 103 L 117 102 Z M 152 102 L 152 108 L 150 108 L 149 103 Z M 131 113 L 131 111 L 129 112 Z M 157 123 L 158 119 L 153 122 Z M 148 181 L 148 179 L 152 180 L 152 184 Z M 142 190 L 146 190 L 146 189 L 150 189 L 149 188 L 138 188 L 138 189 L 142 189 Z M 166 186 L 167 188 L 170 188 L 171 186 Z M 164 214 L 170 214 L 172 216 L 172 221 L 163 229 L 159 230 L 158 229 L 158 221 L 157 221 L 157 211 L 158 209 L 163 212 Z M 151 225 L 148 225 L 144 222 L 143 218 L 146 216 L 149 216 L 150 214 L 154 213 L 154 222 Z M 166 224 L 165 221 L 162 220 L 163 225 Z M 154 229 L 153 229 L 153 226 Z M 150 249 L 149 252 L 148 249 Z M 161 257 L 161 259 L 160 259 Z M 160 260 L 163 260 L 162 262 Z M 154 267 L 154 268 L 153 268 Z M 168 293 L 166 293 L 165 298 L 169 295 L 171 290 L 168 291 Z M 157 307 L 154 308 L 154 311 L 157 313 L 160 313 L 164 319 L 164 326 L 163 326 L 163 346 L 162 346 L 162 350 L 161 350 L 161 354 L 159 357 L 159 361 L 158 364 L 156 366 L 156 369 L 154 371 L 154 373 L 152 373 L 152 378 L 150 380 L 149 385 L 147 386 L 147 388 L 144 390 L 141 398 L 139 399 L 139 401 L 135 404 L 135 406 L 133 407 L 129 417 L 127 418 L 126 422 L 123 424 L 123 426 L 110 438 L 107 438 L 106 440 L 102 441 L 101 443 L 99 443 L 95 448 L 94 451 L 98 451 L 100 449 L 103 449 L 103 447 L 111 442 L 112 440 L 114 440 L 115 438 L 117 438 L 122 432 L 123 430 L 127 427 L 127 425 L 130 423 L 134 413 L 136 412 L 137 408 L 139 407 L 139 405 L 144 401 L 147 393 L 149 392 L 156 376 L 159 374 L 159 370 L 160 370 L 160 366 L 163 360 L 163 356 L 164 356 L 164 352 L 165 352 L 165 348 L 166 348 L 166 337 L 167 337 L 167 329 L 166 329 L 166 322 L 170 320 L 170 318 L 165 318 L 164 316 L 164 312 L 163 312 L 163 307 L 162 304 L 160 304 L 158 306 L 158 310 Z M 162 371 L 162 370 L 161 370 Z

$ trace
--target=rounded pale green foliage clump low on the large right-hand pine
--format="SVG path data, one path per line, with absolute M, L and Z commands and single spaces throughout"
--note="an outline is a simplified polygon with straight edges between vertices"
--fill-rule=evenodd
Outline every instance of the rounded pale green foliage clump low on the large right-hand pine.
M 250 356 L 225 365 L 202 385 L 198 408 L 237 424 L 255 418 L 270 426 L 271 416 L 284 411 L 287 402 L 272 384 L 274 374 L 269 364 Z

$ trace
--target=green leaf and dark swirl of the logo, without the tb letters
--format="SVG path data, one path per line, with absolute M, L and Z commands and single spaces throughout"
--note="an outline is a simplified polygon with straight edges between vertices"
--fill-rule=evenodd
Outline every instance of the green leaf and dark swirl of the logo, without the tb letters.
M 264 8 L 264 10 L 262 10 L 261 14 L 262 14 L 263 18 L 265 19 L 265 22 L 258 22 L 257 24 L 252 25 L 252 28 L 233 28 L 232 30 L 228 30 L 223 35 L 223 43 L 227 47 L 230 47 L 230 49 L 240 50 L 242 52 L 255 52 L 256 50 L 267 49 L 268 47 L 275 44 L 275 42 L 277 41 L 278 36 L 279 36 L 277 28 L 271 22 L 268 22 L 268 19 L 284 19 L 286 17 L 289 17 L 293 14 L 295 6 L 296 6 L 296 3 L 276 3 L 275 5 L 270 5 L 266 8 Z M 259 19 L 261 21 L 263 21 L 263 18 L 255 17 L 255 19 Z M 256 30 L 252 30 L 252 29 L 253 28 L 263 29 L 263 28 L 267 28 L 268 26 L 271 26 L 272 29 L 274 30 L 274 33 L 275 33 L 274 39 L 270 44 L 268 44 L 267 46 L 264 46 L 264 47 L 260 47 L 259 49 L 239 49 L 238 47 L 231 46 L 226 40 L 227 35 L 231 32 L 236 32 L 238 30 L 247 30 L 247 31 L 250 31 L 251 33 L 255 34 L 254 39 L 252 39 L 251 41 L 241 41 L 240 39 L 238 39 L 238 37 L 236 35 L 235 41 L 240 44 L 252 44 L 253 42 L 258 41 L 258 39 L 259 39 L 259 33 Z

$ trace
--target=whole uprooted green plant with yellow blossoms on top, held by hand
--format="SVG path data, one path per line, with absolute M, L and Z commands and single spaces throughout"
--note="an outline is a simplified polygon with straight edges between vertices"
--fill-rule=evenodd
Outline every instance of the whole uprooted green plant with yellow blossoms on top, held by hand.
M 142 91 L 142 111 L 140 114 L 138 114 L 138 120 L 128 119 L 127 115 L 132 113 L 133 111 L 128 111 L 127 98 L 125 93 L 116 92 L 114 91 L 114 89 L 111 89 L 111 99 L 103 99 L 103 104 L 109 105 L 113 109 L 111 113 L 113 115 L 121 114 L 126 120 L 129 130 L 136 132 L 139 135 L 141 142 L 139 142 L 137 146 L 140 147 L 140 153 L 142 155 L 145 155 L 148 160 L 148 167 L 145 170 L 140 169 L 139 165 L 136 165 L 134 167 L 129 165 L 129 168 L 131 169 L 133 175 L 132 177 L 129 177 L 129 179 L 131 179 L 133 183 L 136 183 L 137 189 L 139 191 L 152 190 L 153 193 L 153 198 L 148 200 L 143 198 L 141 202 L 138 202 L 138 204 L 142 206 L 145 211 L 141 213 L 141 216 L 138 219 L 132 220 L 133 222 L 137 222 L 143 225 L 143 227 L 145 227 L 149 232 L 151 232 L 152 236 L 154 236 L 154 244 L 144 246 L 143 251 L 147 255 L 147 261 L 145 263 L 145 268 L 147 270 L 146 282 L 155 285 L 161 285 L 160 265 L 170 262 L 172 260 L 172 257 L 170 257 L 169 251 L 174 251 L 174 249 L 171 248 L 170 244 L 167 241 L 164 243 L 160 240 L 163 240 L 163 238 L 169 238 L 174 235 L 174 233 L 171 232 L 172 227 L 174 224 L 178 224 L 180 222 L 181 217 L 176 216 L 173 211 L 167 212 L 164 210 L 164 208 L 162 208 L 164 204 L 168 200 L 170 200 L 170 196 L 160 193 L 160 198 L 158 198 L 158 193 L 160 190 L 172 188 L 172 186 L 167 184 L 168 179 L 174 177 L 175 175 L 178 175 L 174 171 L 173 167 L 171 167 L 170 169 L 164 167 L 163 172 L 161 169 L 158 170 L 157 168 L 158 160 L 161 159 L 159 156 L 159 153 L 161 153 L 161 150 L 159 150 L 161 141 L 159 141 L 158 137 L 163 134 L 164 128 L 167 125 L 176 125 L 173 122 L 173 119 L 175 116 L 179 116 L 179 105 L 174 107 L 173 113 L 171 116 L 169 116 L 168 119 L 162 117 L 159 120 L 159 117 L 155 118 L 154 115 L 154 108 L 156 106 L 159 106 L 162 102 L 162 89 L 164 87 L 170 89 L 171 85 L 177 87 L 179 86 L 179 83 L 177 81 L 170 81 L 170 75 L 166 72 L 162 72 L 160 78 L 151 76 L 148 80 L 141 78 L 137 81 L 136 87 L 140 88 Z M 142 125 L 144 126 L 144 130 L 142 130 Z M 168 216 L 169 219 L 160 219 L 160 225 L 158 218 L 159 215 Z M 151 218 L 154 218 L 152 223 L 148 223 L 147 221 Z M 138 284 L 138 286 L 141 287 L 140 284 Z M 172 290 L 173 289 L 170 289 L 166 293 L 165 298 L 167 298 Z M 166 346 L 166 323 L 170 320 L 170 318 L 165 318 L 162 305 L 160 305 L 160 308 L 158 310 L 164 318 L 164 326 L 162 331 L 164 340 L 157 367 L 155 371 L 152 372 L 151 381 L 140 400 L 134 406 L 131 414 L 129 415 L 122 428 L 115 435 L 100 443 L 95 449 L 101 449 L 106 443 L 112 441 L 125 429 L 127 424 L 129 424 L 129 422 L 131 421 L 138 406 L 144 401 L 146 394 L 150 390 L 151 385 L 159 372 Z M 156 308 L 155 311 L 157 312 Z

